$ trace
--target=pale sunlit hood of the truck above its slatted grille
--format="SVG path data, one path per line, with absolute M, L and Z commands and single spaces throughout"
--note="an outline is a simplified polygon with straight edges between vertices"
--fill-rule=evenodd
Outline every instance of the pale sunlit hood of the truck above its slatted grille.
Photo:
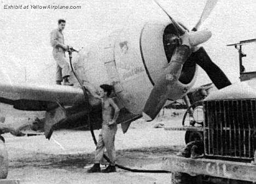
M 221 90 L 211 92 L 205 100 L 256 98 L 256 79 L 237 82 Z

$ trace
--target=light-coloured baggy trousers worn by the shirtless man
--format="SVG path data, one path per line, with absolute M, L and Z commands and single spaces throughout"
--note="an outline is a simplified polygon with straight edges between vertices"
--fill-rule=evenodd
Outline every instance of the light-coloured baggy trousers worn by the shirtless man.
M 110 165 L 115 165 L 115 134 L 117 133 L 117 124 L 108 127 L 107 124 L 102 124 L 101 133 L 98 135 L 98 143 L 95 151 L 95 163 L 100 163 L 103 158 L 103 153 L 106 148 Z

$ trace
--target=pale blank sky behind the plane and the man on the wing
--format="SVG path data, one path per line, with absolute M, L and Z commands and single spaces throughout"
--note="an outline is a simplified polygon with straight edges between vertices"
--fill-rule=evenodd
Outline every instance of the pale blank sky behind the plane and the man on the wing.
M 67 21 L 65 43 L 86 48 L 125 26 L 147 21 L 169 21 L 152 0 L 87 1 L 5 1 L 0 2 L 0 74 L 4 82 L 54 84 L 55 61 L 49 43 L 57 20 Z M 193 28 L 205 6 L 202 1 L 159 0 L 177 21 Z M 81 9 L 4 9 L 4 5 L 80 5 Z M 256 38 L 256 1 L 219 0 L 200 29 L 209 29 L 212 38 L 203 44 L 212 60 L 232 82 L 238 79 L 238 54 L 226 44 Z M 246 46 L 246 68 L 255 69 L 256 44 Z M 196 85 L 210 82 L 200 69 Z

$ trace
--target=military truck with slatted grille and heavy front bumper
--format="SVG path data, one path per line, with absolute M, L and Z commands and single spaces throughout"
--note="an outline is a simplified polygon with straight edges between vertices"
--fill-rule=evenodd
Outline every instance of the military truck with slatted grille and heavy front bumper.
M 162 169 L 173 172 L 172 183 L 256 183 L 256 64 L 245 60 L 242 50 L 255 43 L 228 45 L 238 50 L 241 82 L 192 104 L 194 123 L 166 128 L 186 131 L 184 149 L 163 158 Z

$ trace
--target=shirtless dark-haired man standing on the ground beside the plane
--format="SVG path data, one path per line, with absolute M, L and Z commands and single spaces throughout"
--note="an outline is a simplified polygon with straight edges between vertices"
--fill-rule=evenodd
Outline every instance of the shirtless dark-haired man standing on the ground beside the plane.
M 115 172 L 115 133 L 117 133 L 117 118 L 119 115 L 119 108 L 114 103 L 113 99 L 109 95 L 113 91 L 113 87 L 107 84 L 100 86 L 100 96 L 92 94 L 92 96 L 101 99 L 102 103 L 102 129 L 100 135 L 98 135 L 98 143 L 95 151 L 94 166 L 90 168 L 88 173 L 111 173 Z M 110 160 L 109 166 L 101 171 L 100 161 L 103 159 L 104 150 L 107 150 L 108 158 Z

